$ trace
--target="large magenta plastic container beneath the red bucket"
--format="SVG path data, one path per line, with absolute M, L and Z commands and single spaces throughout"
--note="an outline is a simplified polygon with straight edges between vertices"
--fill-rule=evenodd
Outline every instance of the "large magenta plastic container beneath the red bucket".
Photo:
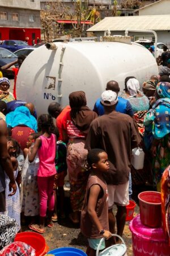
M 129 225 L 132 234 L 133 256 L 169 256 L 170 247 L 162 228 L 148 228 L 140 216 L 133 218 Z

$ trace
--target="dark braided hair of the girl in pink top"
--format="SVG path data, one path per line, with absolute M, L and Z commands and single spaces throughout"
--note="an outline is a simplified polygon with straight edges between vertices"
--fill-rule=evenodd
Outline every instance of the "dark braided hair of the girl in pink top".
M 52 134 L 54 131 L 53 117 L 49 114 L 42 114 L 38 119 L 38 130 L 44 129 L 46 133 Z

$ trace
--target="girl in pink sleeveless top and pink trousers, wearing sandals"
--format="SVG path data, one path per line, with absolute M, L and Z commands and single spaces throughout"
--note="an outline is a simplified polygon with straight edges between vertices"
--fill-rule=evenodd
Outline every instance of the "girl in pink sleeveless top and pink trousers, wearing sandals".
M 32 151 L 28 152 L 29 162 L 33 162 L 36 153 L 39 154 L 40 166 L 37 172 L 37 184 L 39 187 L 40 197 L 40 225 L 29 225 L 29 228 L 44 233 L 44 222 L 48 204 L 48 224 L 49 228 L 54 225 L 52 214 L 54 210 L 54 176 L 56 174 L 55 157 L 56 157 L 56 136 L 52 134 L 53 118 L 51 115 L 42 114 L 38 120 L 39 131 L 42 135 L 36 139 Z

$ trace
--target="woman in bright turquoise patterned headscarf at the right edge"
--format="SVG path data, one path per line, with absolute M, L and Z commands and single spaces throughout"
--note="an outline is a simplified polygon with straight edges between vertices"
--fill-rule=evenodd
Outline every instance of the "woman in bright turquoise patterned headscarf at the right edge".
M 156 102 L 144 120 L 144 141 L 153 156 L 154 185 L 160 191 L 162 174 L 170 164 L 170 83 L 159 82 L 155 97 Z

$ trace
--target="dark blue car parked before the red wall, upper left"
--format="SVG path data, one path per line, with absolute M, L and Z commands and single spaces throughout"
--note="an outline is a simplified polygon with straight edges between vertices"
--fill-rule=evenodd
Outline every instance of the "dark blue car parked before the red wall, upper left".
M 30 48 L 27 43 L 21 40 L 3 40 L 0 42 L 0 47 L 6 48 L 11 52 L 15 52 L 18 49 Z

